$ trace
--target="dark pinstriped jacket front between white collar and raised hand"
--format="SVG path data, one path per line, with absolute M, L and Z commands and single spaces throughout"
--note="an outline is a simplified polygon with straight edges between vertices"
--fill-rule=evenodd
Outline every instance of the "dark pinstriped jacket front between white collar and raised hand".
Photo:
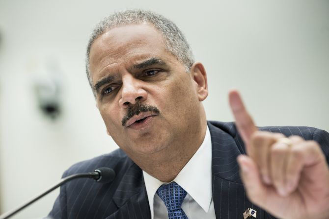
M 240 179 L 236 157 L 244 147 L 233 123 L 208 122 L 212 141 L 212 188 L 217 219 L 243 218 L 247 208 L 264 218 L 264 211 L 253 205 L 246 196 Z M 233 136 L 233 137 L 232 137 Z

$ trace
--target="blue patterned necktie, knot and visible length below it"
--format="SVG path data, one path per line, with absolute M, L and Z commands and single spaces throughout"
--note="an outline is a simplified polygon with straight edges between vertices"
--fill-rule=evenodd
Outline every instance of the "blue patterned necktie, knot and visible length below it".
M 187 192 L 182 187 L 175 182 L 171 182 L 160 186 L 157 194 L 164 201 L 169 219 L 188 219 L 182 209 L 183 200 L 187 195 Z

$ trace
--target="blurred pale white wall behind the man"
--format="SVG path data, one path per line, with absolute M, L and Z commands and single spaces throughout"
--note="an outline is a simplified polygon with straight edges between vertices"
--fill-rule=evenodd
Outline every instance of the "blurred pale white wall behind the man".
M 1 0 L 0 208 L 8 211 L 59 180 L 71 164 L 116 148 L 84 73 L 92 27 L 124 8 L 172 19 L 208 72 L 209 120 L 231 121 L 238 88 L 258 125 L 329 130 L 329 1 Z M 45 119 L 34 79 L 58 64 L 63 115 Z M 14 218 L 46 215 L 58 191 Z

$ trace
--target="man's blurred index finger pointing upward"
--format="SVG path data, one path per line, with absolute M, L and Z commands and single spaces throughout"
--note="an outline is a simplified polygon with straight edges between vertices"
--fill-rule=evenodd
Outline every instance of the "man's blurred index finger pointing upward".
M 258 129 L 252 121 L 251 116 L 248 114 L 239 92 L 236 90 L 230 91 L 228 98 L 231 110 L 235 118 L 235 125 L 237 126 L 242 140 L 244 141 L 248 150 L 248 144 L 250 142 L 251 136 Z

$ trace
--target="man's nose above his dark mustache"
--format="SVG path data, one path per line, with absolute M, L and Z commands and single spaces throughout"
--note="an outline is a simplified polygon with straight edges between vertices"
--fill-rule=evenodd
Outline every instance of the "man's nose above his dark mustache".
M 147 99 L 147 92 L 142 88 L 140 80 L 132 75 L 125 75 L 122 78 L 122 92 L 119 100 L 120 106 L 127 108 L 130 104 Z

